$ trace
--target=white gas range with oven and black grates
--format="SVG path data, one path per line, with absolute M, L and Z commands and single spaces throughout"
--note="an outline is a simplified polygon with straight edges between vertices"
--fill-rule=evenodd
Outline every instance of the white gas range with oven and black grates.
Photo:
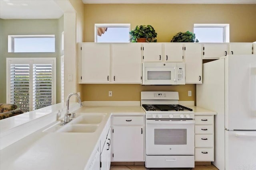
M 194 167 L 194 111 L 178 92 L 141 92 L 146 112 L 146 167 Z

